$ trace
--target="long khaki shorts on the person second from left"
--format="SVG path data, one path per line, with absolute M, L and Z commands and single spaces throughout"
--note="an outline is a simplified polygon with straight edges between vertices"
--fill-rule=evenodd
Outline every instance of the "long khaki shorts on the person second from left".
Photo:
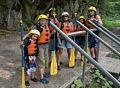
M 45 62 L 49 62 L 48 48 L 39 48 L 38 63 L 40 68 L 45 68 Z

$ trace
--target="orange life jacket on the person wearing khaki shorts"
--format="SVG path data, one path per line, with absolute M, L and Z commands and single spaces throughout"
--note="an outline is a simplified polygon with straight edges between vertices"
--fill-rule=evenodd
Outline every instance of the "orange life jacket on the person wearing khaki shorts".
M 48 26 L 42 27 L 42 31 L 40 33 L 40 37 L 38 38 L 38 44 L 48 43 L 50 40 L 50 29 Z

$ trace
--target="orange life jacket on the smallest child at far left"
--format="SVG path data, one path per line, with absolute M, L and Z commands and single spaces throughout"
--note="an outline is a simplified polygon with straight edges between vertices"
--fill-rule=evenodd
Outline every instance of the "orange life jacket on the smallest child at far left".
M 35 55 L 37 53 L 37 43 L 34 40 L 30 40 L 30 44 L 27 46 L 28 55 Z

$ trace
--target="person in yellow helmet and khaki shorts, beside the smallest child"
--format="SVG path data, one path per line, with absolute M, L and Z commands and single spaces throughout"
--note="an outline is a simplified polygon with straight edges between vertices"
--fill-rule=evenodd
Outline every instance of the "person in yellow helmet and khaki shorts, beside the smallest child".
M 45 76 L 45 62 L 49 62 L 48 57 L 48 47 L 50 41 L 50 30 L 47 26 L 47 16 L 41 14 L 38 16 L 39 26 L 37 26 L 37 30 L 40 31 L 40 37 L 38 38 L 38 60 L 39 60 L 39 74 L 40 74 L 40 82 L 47 84 L 49 81 L 44 77 Z

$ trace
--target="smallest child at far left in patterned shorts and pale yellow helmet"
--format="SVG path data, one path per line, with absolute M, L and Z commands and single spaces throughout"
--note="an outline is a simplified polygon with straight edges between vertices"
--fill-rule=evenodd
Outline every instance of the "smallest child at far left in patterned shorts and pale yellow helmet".
M 25 85 L 30 86 L 28 76 L 31 74 L 31 80 L 37 82 L 35 78 L 36 55 L 38 54 L 37 39 L 40 36 L 38 30 L 31 30 L 28 37 L 24 39 L 25 49 Z

